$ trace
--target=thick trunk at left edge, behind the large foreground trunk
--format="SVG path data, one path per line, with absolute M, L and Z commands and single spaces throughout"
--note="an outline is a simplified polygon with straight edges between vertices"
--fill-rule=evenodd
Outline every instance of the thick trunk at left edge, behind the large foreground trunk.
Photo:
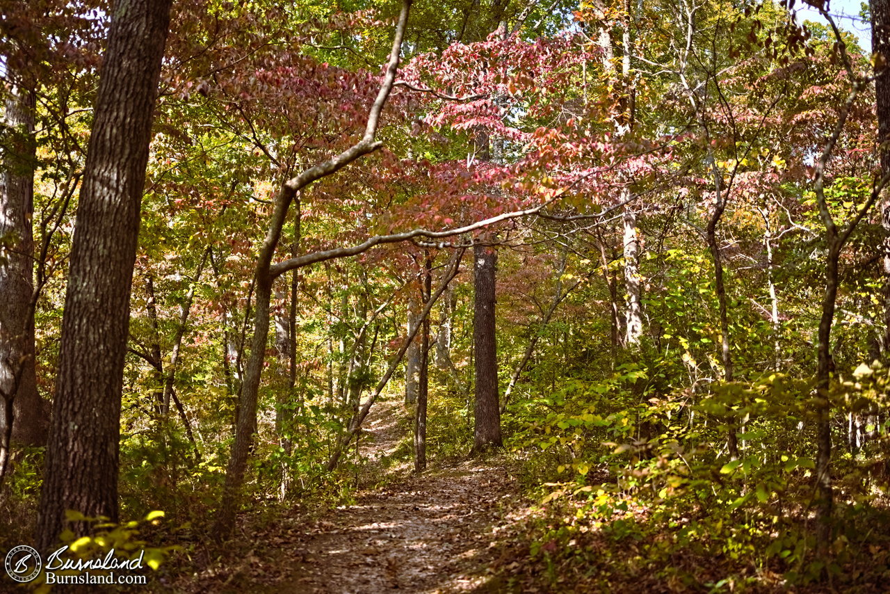
M 7 72 L 15 81 L 18 73 Z M 37 392 L 34 348 L 34 139 L 35 95 L 13 86 L 4 124 L 12 138 L 4 147 L 0 170 L 0 477 L 11 442 L 42 445 L 47 410 Z M 13 421 L 14 419 L 14 421 Z

